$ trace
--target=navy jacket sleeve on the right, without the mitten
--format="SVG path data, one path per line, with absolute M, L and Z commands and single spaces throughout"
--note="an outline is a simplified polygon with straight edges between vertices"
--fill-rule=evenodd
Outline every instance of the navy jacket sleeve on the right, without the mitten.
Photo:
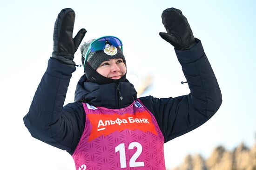
M 201 126 L 222 103 L 222 94 L 204 53 L 201 41 L 190 50 L 175 50 L 187 79 L 190 94 L 175 98 L 141 97 L 141 102 L 154 114 L 165 142 Z

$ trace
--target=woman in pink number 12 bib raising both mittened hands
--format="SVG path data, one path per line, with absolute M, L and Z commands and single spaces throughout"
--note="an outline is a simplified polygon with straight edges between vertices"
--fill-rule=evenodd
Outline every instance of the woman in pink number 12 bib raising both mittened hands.
M 74 11 L 63 9 L 54 26 L 54 52 L 49 59 L 24 123 L 31 135 L 66 150 L 76 170 L 165 170 L 163 144 L 209 120 L 222 103 L 216 77 L 182 12 L 162 13 L 167 33 L 160 36 L 175 52 L 191 93 L 175 98 L 137 98 L 126 79 L 119 38 L 105 36 L 81 45 L 85 74 L 75 102 L 63 107 L 74 53 L 86 30 L 72 38 Z

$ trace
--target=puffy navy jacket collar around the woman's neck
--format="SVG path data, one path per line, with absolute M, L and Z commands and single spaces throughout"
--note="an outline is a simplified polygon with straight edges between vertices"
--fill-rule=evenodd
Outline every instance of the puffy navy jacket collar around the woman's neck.
M 77 83 L 74 101 L 89 103 L 95 107 L 123 108 L 137 98 L 134 85 L 125 82 L 97 84 L 88 82 L 84 74 Z

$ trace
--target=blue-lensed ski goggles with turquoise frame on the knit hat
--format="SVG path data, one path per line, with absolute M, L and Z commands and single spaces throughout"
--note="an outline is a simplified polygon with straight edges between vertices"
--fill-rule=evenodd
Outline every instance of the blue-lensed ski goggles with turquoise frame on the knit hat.
M 97 38 L 93 42 L 91 42 L 87 52 L 85 53 L 84 66 L 85 66 L 85 62 L 86 62 L 89 51 L 91 50 L 91 52 L 94 52 L 94 51 L 104 50 L 107 43 L 110 43 L 115 47 L 121 46 L 121 50 L 123 50 L 122 41 L 117 37 L 104 36 L 104 37 Z

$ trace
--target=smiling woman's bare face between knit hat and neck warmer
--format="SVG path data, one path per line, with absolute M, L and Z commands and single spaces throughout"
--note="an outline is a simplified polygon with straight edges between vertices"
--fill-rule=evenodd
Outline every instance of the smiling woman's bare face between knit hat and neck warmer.
M 104 61 L 96 69 L 104 77 L 120 79 L 126 73 L 126 66 L 121 58 Z

